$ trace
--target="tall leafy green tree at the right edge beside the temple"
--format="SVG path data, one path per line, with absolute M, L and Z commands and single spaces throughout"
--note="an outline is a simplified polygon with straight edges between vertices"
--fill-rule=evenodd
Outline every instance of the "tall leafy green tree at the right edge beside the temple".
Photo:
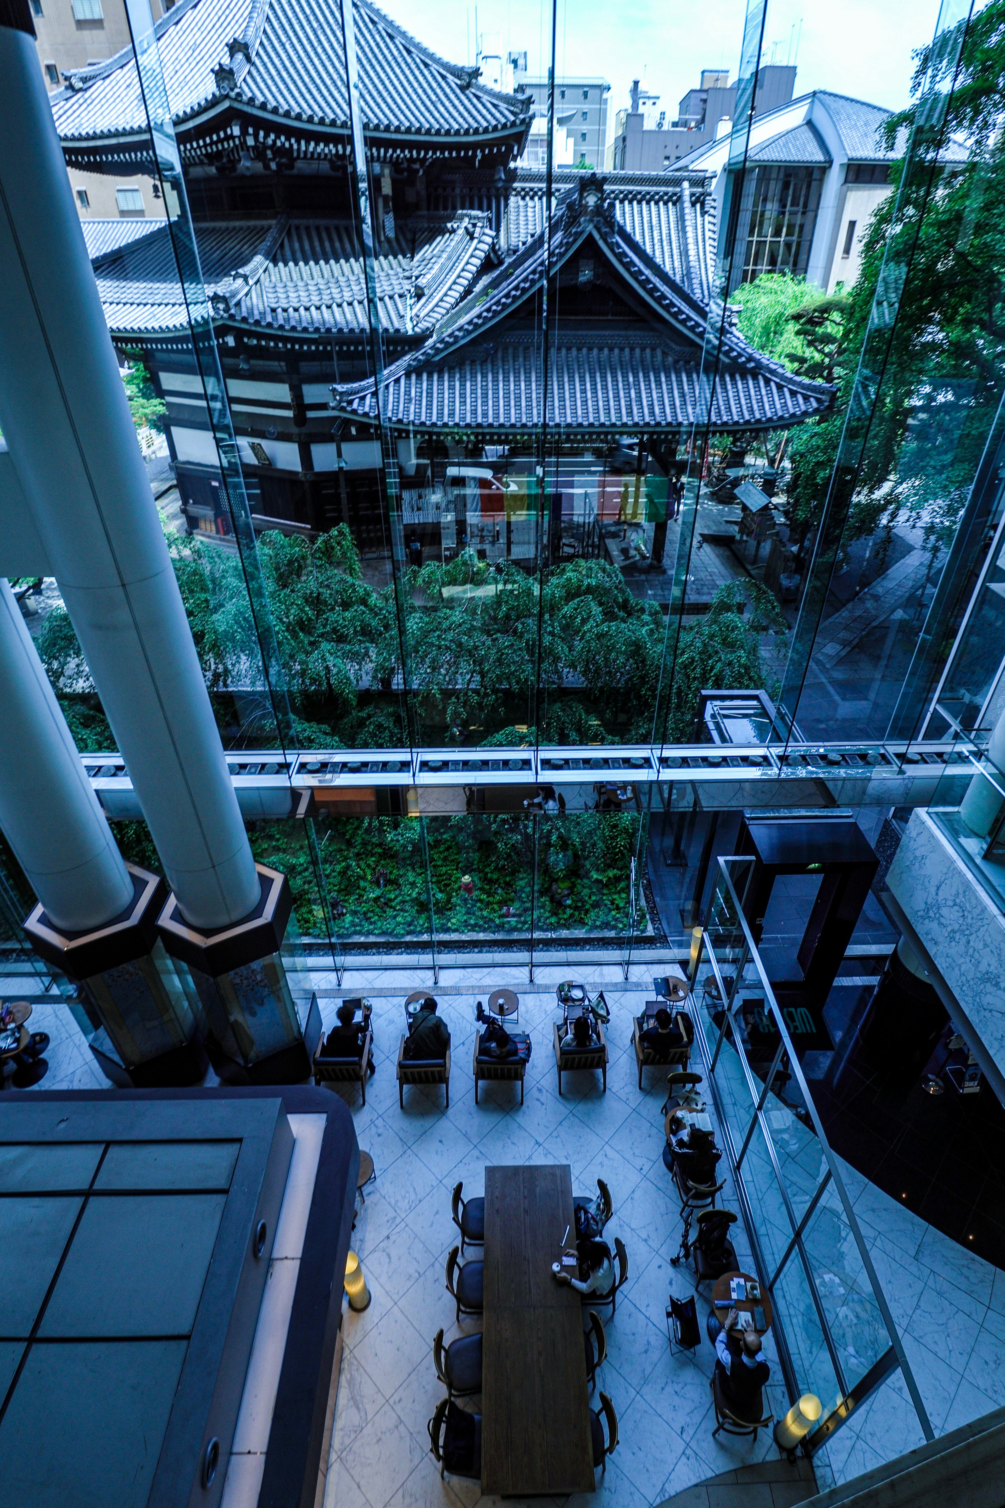
M 898 133 L 903 140 L 913 133 L 913 154 L 894 164 L 894 192 L 869 220 L 848 294 L 839 413 L 796 431 L 788 502 L 797 519 L 818 514 L 863 353 L 869 372 L 881 363 L 883 380 L 845 541 L 903 522 L 919 525 L 934 547 L 955 532 L 1003 389 L 1005 0 L 991 0 L 916 59 L 915 101 L 884 127 L 889 148 Z M 948 90 L 945 118 L 936 87 Z M 967 140 L 969 157 L 940 166 L 951 137 Z M 886 288 L 900 291 L 894 324 Z M 874 383 L 862 374 L 863 398 Z

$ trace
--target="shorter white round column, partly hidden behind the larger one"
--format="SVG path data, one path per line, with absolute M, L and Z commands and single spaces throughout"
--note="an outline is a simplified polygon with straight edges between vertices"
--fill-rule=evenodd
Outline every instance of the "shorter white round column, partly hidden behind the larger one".
M 66 932 L 89 932 L 133 900 L 133 881 L 72 734 L 0 576 L 0 828 Z

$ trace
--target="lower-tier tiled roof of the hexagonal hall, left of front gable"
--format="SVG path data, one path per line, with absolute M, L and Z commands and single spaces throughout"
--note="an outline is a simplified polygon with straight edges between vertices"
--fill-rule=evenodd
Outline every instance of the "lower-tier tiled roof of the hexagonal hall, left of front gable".
M 188 323 L 166 222 L 107 246 L 84 225 L 108 329 L 116 338 L 157 339 Z M 113 222 L 115 223 L 115 222 Z M 136 222 L 133 222 L 136 223 Z M 363 264 L 347 228 L 310 220 L 199 225 L 199 256 L 214 318 L 238 327 L 300 335 L 368 329 Z M 410 237 L 411 243 L 411 237 Z M 377 299 L 387 333 L 431 332 L 472 287 L 493 244 L 488 216 L 466 211 L 416 232 L 414 255 L 384 241 Z

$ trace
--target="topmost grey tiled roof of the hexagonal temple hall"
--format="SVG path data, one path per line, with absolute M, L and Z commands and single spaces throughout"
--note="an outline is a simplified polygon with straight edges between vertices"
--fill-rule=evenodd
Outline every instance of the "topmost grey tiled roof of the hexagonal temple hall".
M 371 0 L 354 0 L 366 130 L 381 154 L 446 155 L 458 145 L 523 142 L 530 100 L 473 81 L 408 36 Z M 339 155 L 348 142 L 341 8 L 331 0 L 179 0 L 157 23 L 182 158 L 217 160 L 253 134 L 294 155 Z M 133 48 L 75 69 L 53 95 L 75 166 L 149 154 Z M 232 131 L 240 118 L 241 137 Z

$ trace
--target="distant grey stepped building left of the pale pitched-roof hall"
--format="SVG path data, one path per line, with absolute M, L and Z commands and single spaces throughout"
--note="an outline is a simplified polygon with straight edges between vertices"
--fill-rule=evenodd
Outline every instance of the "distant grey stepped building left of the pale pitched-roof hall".
M 793 98 L 794 65 L 765 63 L 758 74 L 755 115 L 764 115 Z M 607 149 L 607 167 L 625 172 L 661 173 L 681 157 L 714 142 L 737 109 L 737 86 L 729 71 L 702 68 L 698 89 L 689 89 L 677 119 L 667 125 L 666 110 L 657 113 L 660 97 L 631 83 L 631 104 L 615 116 L 615 136 Z

